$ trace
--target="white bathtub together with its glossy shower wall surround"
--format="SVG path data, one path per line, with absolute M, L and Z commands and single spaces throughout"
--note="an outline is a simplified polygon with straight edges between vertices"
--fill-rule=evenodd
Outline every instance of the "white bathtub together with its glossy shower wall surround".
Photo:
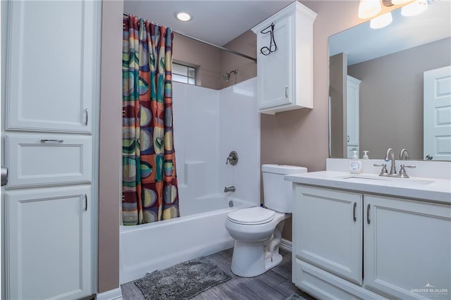
M 259 204 L 255 84 L 253 78 L 216 91 L 174 83 L 180 218 L 121 226 L 121 284 L 233 246 L 224 227 L 227 213 Z M 226 165 L 232 149 L 240 160 Z M 235 192 L 224 193 L 225 186 L 235 186 Z

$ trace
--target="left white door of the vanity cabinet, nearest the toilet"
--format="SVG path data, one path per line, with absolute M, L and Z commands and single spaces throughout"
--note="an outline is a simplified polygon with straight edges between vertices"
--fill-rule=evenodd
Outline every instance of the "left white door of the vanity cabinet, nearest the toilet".
M 293 255 L 362 285 L 362 194 L 295 186 Z

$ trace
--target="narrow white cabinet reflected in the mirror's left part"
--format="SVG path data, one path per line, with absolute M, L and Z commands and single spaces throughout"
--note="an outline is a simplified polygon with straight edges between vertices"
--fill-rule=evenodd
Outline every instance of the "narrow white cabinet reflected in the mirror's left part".
M 347 75 L 346 85 L 346 132 L 347 158 L 352 158 L 353 151 L 359 154 L 359 85 L 360 80 Z

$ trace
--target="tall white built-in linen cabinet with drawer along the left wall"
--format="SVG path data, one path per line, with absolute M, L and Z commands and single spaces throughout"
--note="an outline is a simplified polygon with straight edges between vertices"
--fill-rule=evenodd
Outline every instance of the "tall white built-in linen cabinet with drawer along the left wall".
M 94 294 L 101 1 L 1 1 L 1 299 Z

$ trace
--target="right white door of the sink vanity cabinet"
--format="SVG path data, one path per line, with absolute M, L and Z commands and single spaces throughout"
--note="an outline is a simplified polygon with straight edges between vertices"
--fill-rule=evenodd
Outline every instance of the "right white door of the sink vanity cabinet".
M 451 206 L 365 194 L 364 218 L 364 287 L 450 299 Z

